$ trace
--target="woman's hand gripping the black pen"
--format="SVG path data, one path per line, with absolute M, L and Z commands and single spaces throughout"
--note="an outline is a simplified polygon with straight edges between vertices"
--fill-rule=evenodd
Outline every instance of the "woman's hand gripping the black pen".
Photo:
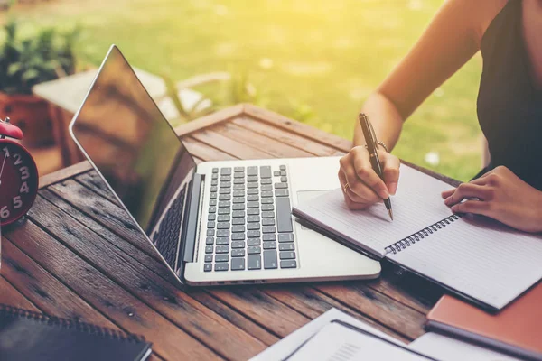
M 399 180 L 399 159 L 382 149 L 378 150 L 378 158 L 384 173 L 383 181 L 373 171 L 369 152 L 364 146 L 356 146 L 341 158 L 339 180 L 341 181 L 344 200 L 348 208 L 365 209 L 388 199 L 397 190 Z M 347 186 L 348 184 L 348 186 Z

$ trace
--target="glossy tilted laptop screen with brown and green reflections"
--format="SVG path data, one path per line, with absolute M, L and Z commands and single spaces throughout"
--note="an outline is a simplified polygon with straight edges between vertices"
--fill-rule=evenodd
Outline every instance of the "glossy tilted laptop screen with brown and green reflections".
M 113 46 L 107 54 L 88 97 L 72 121 L 71 131 L 164 255 L 165 245 L 159 245 L 156 234 L 165 211 L 173 208 L 173 199 L 180 193 L 184 195 L 195 162 L 117 47 Z M 168 219 L 176 223 L 168 225 L 176 232 L 175 241 L 184 208 L 184 202 L 180 203 L 175 212 L 178 217 Z M 171 232 L 168 236 L 171 238 Z M 170 258 L 166 261 L 174 267 L 173 257 Z

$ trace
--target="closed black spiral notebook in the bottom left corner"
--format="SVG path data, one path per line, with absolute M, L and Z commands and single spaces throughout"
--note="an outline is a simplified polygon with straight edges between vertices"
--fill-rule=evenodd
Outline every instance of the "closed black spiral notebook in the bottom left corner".
M 0 360 L 145 360 L 141 337 L 0 305 Z

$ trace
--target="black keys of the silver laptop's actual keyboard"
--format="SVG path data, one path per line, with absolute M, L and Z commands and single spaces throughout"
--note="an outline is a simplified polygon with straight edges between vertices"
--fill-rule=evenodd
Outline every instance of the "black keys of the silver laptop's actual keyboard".
M 296 268 L 286 166 L 213 168 L 205 272 Z

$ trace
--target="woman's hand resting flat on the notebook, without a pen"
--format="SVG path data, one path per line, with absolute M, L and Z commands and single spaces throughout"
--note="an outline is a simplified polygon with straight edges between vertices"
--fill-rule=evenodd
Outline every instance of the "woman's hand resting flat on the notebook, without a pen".
M 488 171 L 442 194 L 454 213 L 474 213 L 525 232 L 542 232 L 542 191 L 506 167 Z M 464 200 L 464 201 L 463 201 Z

